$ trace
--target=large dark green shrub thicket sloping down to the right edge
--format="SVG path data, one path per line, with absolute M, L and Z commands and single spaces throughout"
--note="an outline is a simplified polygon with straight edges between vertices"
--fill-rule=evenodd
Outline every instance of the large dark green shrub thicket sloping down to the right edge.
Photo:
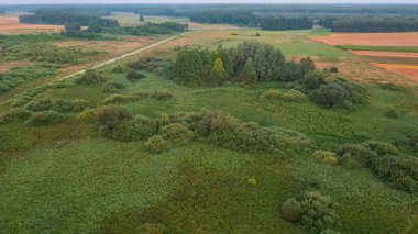
M 403 154 L 392 144 L 375 141 L 346 144 L 337 154 L 343 165 L 366 167 L 396 189 L 418 191 L 418 158 Z

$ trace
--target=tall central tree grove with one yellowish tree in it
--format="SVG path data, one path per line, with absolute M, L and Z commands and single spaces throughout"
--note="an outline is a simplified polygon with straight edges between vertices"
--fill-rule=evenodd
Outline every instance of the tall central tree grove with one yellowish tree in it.
M 272 45 L 243 43 L 237 48 L 219 46 L 212 52 L 184 47 L 178 53 L 174 69 L 174 78 L 182 85 L 213 87 L 226 81 L 294 81 L 315 69 L 315 63 L 310 58 L 288 63 Z

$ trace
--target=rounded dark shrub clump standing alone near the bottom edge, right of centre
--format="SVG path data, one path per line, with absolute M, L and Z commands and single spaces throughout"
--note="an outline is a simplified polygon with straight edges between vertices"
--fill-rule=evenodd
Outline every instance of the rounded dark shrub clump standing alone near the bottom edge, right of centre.
M 300 198 L 290 198 L 282 205 L 283 216 L 309 229 L 327 231 L 339 227 L 338 204 L 319 192 L 305 192 Z

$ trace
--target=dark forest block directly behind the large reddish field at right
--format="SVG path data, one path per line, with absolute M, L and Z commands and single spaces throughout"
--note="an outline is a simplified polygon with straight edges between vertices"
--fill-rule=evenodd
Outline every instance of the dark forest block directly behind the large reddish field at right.
M 331 24 L 329 25 L 330 22 Z M 324 23 L 333 32 L 381 33 L 418 31 L 418 18 L 406 16 L 328 19 L 328 22 Z

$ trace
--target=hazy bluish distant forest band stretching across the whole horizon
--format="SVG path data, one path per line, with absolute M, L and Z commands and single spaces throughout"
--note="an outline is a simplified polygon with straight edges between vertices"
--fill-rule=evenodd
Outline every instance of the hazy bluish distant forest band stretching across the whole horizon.
M 56 15 L 46 10 L 61 11 Z M 66 12 L 84 15 L 82 25 L 109 26 L 101 19 L 110 12 L 133 12 L 142 15 L 188 16 L 199 23 L 228 23 L 263 30 L 299 30 L 314 25 L 333 32 L 407 32 L 418 31 L 416 4 L 42 4 L 0 5 L 0 11 L 29 11 L 22 22 L 61 24 Z M 82 13 L 91 11 L 94 14 Z M 36 16 L 37 15 L 37 16 Z M 67 19 L 64 19 L 68 21 Z M 103 21 L 102 21 L 103 20 Z

